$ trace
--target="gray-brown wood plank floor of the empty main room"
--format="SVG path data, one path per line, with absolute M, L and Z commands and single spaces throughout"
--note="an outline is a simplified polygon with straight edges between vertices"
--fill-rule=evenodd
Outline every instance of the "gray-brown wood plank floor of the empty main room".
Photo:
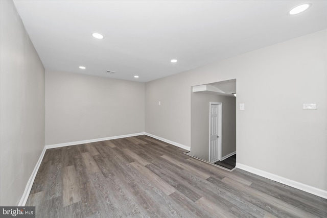
M 327 200 L 148 136 L 46 151 L 36 217 L 327 217 Z

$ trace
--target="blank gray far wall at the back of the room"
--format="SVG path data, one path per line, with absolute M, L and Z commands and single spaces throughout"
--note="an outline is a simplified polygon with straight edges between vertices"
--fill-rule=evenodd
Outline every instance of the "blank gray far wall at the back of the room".
M 45 144 L 144 132 L 144 83 L 45 72 Z

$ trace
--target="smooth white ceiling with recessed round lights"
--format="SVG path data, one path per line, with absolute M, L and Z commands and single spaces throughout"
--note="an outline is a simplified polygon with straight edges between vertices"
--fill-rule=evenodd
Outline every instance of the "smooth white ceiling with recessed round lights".
M 307 11 L 288 15 L 305 2 Z M 46 69 L 140 82 L 327 28 L 327 1 L 14 3 Z

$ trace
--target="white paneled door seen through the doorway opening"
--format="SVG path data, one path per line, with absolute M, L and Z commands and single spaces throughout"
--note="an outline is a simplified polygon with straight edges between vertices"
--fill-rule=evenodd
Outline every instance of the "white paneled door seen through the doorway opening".
M 221 104 L 210 104 L 209 162 L 221 159 Z

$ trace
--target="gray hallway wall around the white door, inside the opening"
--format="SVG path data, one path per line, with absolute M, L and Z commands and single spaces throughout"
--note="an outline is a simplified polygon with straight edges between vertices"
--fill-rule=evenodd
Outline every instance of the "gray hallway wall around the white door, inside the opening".
M 190 155 L 209 161 L 210 102 L 221 102 L 222 157 L 236 151 L 236 98 L 191 92 L 191 151 Z

